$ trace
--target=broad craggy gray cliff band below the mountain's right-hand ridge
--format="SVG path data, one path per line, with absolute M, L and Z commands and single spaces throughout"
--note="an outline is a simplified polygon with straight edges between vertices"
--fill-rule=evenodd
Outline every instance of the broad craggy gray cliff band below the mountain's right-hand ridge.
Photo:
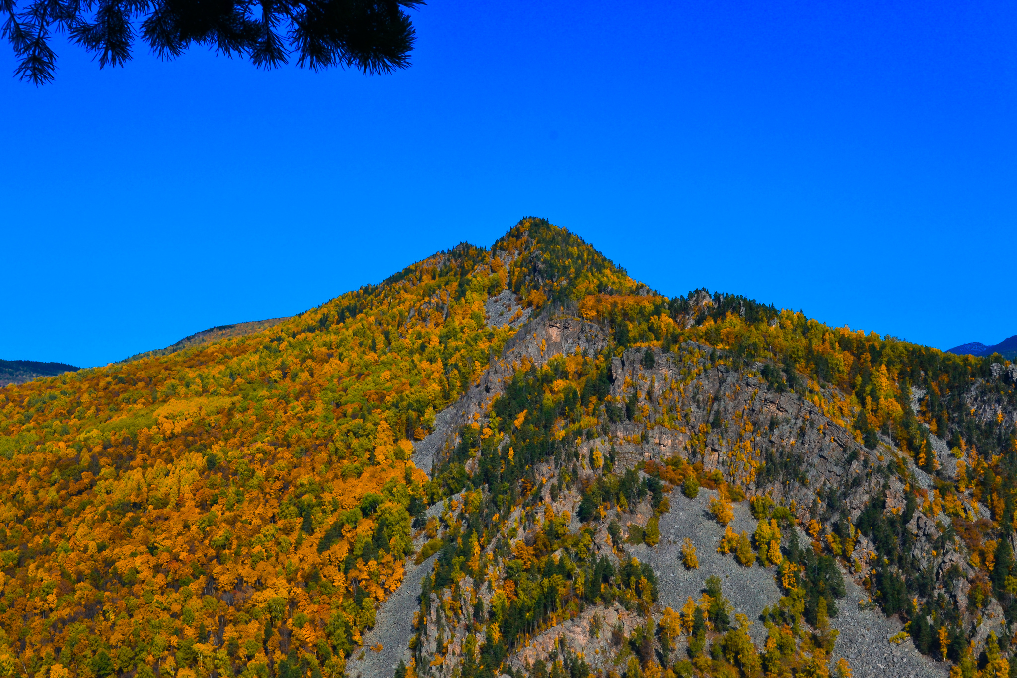
M 747 458 L 741 458 L 744 455 L 732 445 L 737 433 L 734 426 L 741 422 L 743 428 L 744 423 L 752 427 L 746 435 L 757 455 L 756 461 L 762 460 L 759 452 L 764 448 L 781 448 L 792 466 L 798 466 L 796 478 L 769 482 L 754 479 L 751 485 L 755 485 L 758 492 L 770 492 L 785 503 L 794 500 L 799 517 L 807 515 L 816 493 L 827 487 L 850 488 L 845 502 L 853 514 L 860 512 L 877 492 L 882 493 L 883 480 L 872 473 L 880 464 L 879 452 L 858 444 L 847 428 L 848 422 L 838 423 L 820 406 L 793 392 L 772 391 L 759 377 L 731 371 L 725 365 L 710 366 L 706 359 L 707 347 L 687 345 L 684 350 L 700 352 L 702 357 L 693 363 L 698 370 L 695 381 L 676 393 L 665 388 L 690 369 L 687 361 L 679 356 L 662 354 L 655 349 L 657 357 L 652 369 L 642 366 L 645 349 L 631 349 L 622 358 L 614 360 L 611 394 L 624 399 L 636 388 L 641 403 L 649 408 L 648 439 L 631 442 L 631 436 L 644 429 L 642 423 L 612 427 L 612 436 L 615 436 L 612 442 L 626 459 L 635 464 L 639 459 L 663 460 L 680 454 L 691 461 L 701 461 L 706 471 L 719 470 L 744 485 L 753 477 L 752 465 L 747 464 Z M 647 392 L 651 393 L 649 399 Z M 833 394 L 830 396 L 832 398 Z M 671 414 L 668 421 L 664 417 L 665 409 L 681 414 L 678 417 Z M 726 427 L 715 431 L 711 426 L 704 437 L 700 427 L 716 421 L 726 422 Z M 848 464 L 847 458 L 852 455 Z M 804 482 L 786 482 L 802 480 Z M 902 493 L 903 484 L 898 479 L 891 479 L 890 484 L 892 492 Z M 903 504 L 902 497 L 900 501 Z

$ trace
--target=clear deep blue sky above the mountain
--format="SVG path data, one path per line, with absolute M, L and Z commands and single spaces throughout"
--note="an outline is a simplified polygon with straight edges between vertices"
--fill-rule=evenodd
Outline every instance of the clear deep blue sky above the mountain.
M 1017 333 L 1017 4 L 447 2 L 394 75 L 0 45 L 0 358 L 291 315 L 520 218 L 667 295 Z

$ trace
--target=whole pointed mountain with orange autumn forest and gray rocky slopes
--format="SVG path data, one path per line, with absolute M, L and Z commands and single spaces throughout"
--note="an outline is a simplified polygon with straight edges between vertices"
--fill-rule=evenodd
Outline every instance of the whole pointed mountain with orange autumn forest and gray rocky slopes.
M 1007 675 L 1015 384 L 526 219 L 0 391 L 0 668 Z

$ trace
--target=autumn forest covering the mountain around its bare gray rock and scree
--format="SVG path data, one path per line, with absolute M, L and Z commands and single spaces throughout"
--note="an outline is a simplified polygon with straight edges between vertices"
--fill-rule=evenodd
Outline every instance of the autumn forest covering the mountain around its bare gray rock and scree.
M 596 355 L 514 365 L 505 391 L 462 429 L 459 445 L 428 480 L 423 471 L 430 469 L 410 461 L 414 442 L 499 363 L 515 333 L 530 331 L 486 314 L 485 302 L 505 290 L 516 309 L 507 320 L 557 309 L 601 328 L 607 345 Z M 637 348 L 646 352 L 640 355 L 648 370 L 656 352 L 684 361 L 685 371 L 666 383 L 612 386 L 611 361 Z M 886 466 L 870 468 L 870 477 L 899 472 L 906 478 L 906 465 L 895 460 L 906 458 L 936 478 L 935 488 L 907 484 L 908 517 L 915 511 L 931 520 L 949 516 L 943 535 L 952 532 L 937 548 L 965 549 L 975 598 L 964 610 L 936 598 L 941 574 L 922 569 L 932 561 L 902 550 L 904 522 L 883 504 L 848 516 L 836 509 L 833 495 L 822 494 L 828 488 L 811 488 L 821 505 L 834 506 L 827 513 L 812 509 L 819 511 L 813 525 L 800 502 L 803 513 L 794 513 L 793 504 L 775 513 L 780 497 L 773 495 L 762 513 L 765 520 L 772 516 L 772 533 L 765 533 L 771 536 L 757 540 L 763 562 L 776 567 L 793 526 L 807 528 L 816 554 L 864 577 L 876 604 L 912 622 L 915 646 L 970 665 L 965 629 L 977 610 L 996 601 L 1007 619 L 1017 612 L 1017 571 L 1011 574 L 1007 541 L 1017 525 L 1017 400 L 1006 381 L 1009 363 L 829 327 L 743 297 L 700 291 L 669 299 L 566 231 L 524 220 L 490 249 L 460 245 L 258 333 L 0 390 L 0 674 L 342 675 L 374 625 L 379 603 L 401 584 L 406 558 L 414 556 L 413 518 L 464 491 L 453 506 L 461 519 L 444 520 L 442 532 L 437 521 L 429 523 L 426 555 L 441 556 L 425 587 L 452 591 L 467 573 L 477 581 L 490 577 L 500 587 L 502 608 L 500 627 L 493 608 L 470 622 L 495 627 L 486 627 L 487 639 L 471 651 L 486 659 L 463 664 L 462 678 L 497 676 L 506 653 L 567 618 L 572 600 L 577 610 L 594 601 L 630 601 L 642 614 L 665 619 L 664 611 L 654 611 L 651 571 L 627 562 L 617 572 L 610 566 L 608 574 L 607 561 L 591 550 L 595 534 L 606 539 L 613 530 L 606 525 L 570 533 L 560 514 L 531 515 L 542 541 L 516 542 L 522 549 L 502 553 L 500 570 L 480 559 L 480 549 L 501 537 L 507 545 L 516 537 L 507 536 L 511 530 L 525 530 L 523 517 L 514 527 L 505 516 L 536 511 L 547 481 L 538 469 L 552 460 L 564 469 L 574 455 L 601 479 L 580 485 L 575 475 L 556 476 L 555 496 L 569 487 L 582 495 L 585 523 L 604 517 L 605 505 L 617 510 L 644 496 L 652 497 L 656 520 L 668 510 L 662 488 L 690 478 L 720 492 L 723 501 L 763 496 L 761 488 L 784 479 L 787 459 L 798 457 L 780 456 L 786 450 L 768 442 L 766 423 L 754 425 L 740 414 L 722 418 L 712 396 L 709 403 L 700 397 L 697 383 L 718 365 L 811 403 L 831 426 L 877 450 L 881 463 L 886 448 Z M 611 387 L 624 395 L 610 395 Z M 713 417 L 695 427 L 693 399 Z M 776 420 L 769 420 L 771 433 Z M 651 439 L 653 431 L 680 430 L 691 436 L 685 456 L 640 466 L 654 482 L 639 481 L 634 470 L 612 473 L 607 447 L 580 459 L 584 440 L 606 435 L 618 422 L 639 427 L 625 439 L 632 444 Z M 806 428 L 802 423 L 799 435 Z M 931 435 L 967 466 L 961 460 L 959 471 L 944 476 Z M 781 441 L 787 450 L 793 444 Z M 728 454 L 723 465 L 716 472 L 696 467 L 693 458 L 714 445 Z M 629 539 L 655 546 L 654 529 L 643 537 L 640 528 L 641 536 Z M 878 557 L 862 563 L 852 556 L 858 535 L 870 539 Z M 732 553 L 737 538 L 731 537 Z M 623 549 L 614 532 L 605 544 L 609 551 Z M 759 544 L 753 548 L 759 551 Z M 561 554 L 578 566 L 558 567 Z M 829 596 L 794 599 L 790 593 L 796 581 L 802 592 L 813 591 L 826 576 L 804 564 L 800 570 L 784 565 L 778 574 L 788 600 L 800 603 L 788 608 L 786 620 L 793 617 L 799 630 L 799 621 L 820 629 L 819 601 L 825 615 Z M 548 603 L 533 587 L 552 577 L 558 589 Z M 594 580 L 599 591 L 584 589 Z M 687 623 L 669 618 L 667 633 L 694 632 L 694 610 L 686 612 Z M 698 618 L 705 625 L 695 632 L 712 638 L 719 631 L 703 614 Z M 745 637 L 731 642 L 750 642 Z M 813 644 L 801 640 L 793 651 L 792 639 L 793 652 L 777 653 L 766 666 L 816 670 L 810 653 L 828 640 L 832 646 L 827 636 Z M 651 632 L 647 642 L 669 641 L 654 640 Z M 693 670 L 687 662 L 670 666 L 667 657 L 662 666 L 652 653 L 640 655 L 630 675 Z M 695 671 L 751 676 L 764 670 L 722 653 L 714 661 L 696 664 Z

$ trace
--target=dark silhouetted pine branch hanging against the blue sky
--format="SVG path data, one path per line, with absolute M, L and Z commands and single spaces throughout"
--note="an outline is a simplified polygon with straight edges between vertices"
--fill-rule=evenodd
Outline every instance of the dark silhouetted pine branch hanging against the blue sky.
M 160 58 L 193 45 L 238 54 L 258 68 L 279 68 L 297 55 L 313 70 L 341 66 L 367 74 L 410 65 L 415 33 L 405 9 L 419 0 L 0 0 L 0 38 L 18 57 L 17 77 L 53 79 L 53 30 L 97 55 L 100 68 L 123 66 L 140 40 Z

